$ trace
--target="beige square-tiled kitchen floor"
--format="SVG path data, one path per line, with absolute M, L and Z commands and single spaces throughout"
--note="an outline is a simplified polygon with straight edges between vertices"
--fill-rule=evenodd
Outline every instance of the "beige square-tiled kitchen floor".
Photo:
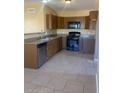
M 63 50 L 41 68 L 24 70 L 25 93 L 96 93 L 92 55 Z

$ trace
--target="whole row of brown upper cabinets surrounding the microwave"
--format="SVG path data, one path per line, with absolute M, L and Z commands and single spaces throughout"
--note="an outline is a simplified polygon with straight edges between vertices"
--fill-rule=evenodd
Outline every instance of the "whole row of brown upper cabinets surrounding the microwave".
M 52 14 L 46 15 L 47 29 L 68 29 L 68 22 L 80 22 L 81 29 L 95 29 L 98 11 L 90 11 L 89 16 L 60 17 Z

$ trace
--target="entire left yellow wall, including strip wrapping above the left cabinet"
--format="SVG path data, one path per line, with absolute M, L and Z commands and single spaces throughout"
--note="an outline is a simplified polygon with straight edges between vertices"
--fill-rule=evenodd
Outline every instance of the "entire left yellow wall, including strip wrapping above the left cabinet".
M 29 13 L 27 9 L 34 8 L 34 13 Z M 57 13 L 42 3 L 25 2 L 24 11 L 24 33 L 38 33 L 47 31 L 46 14 L 56 15 Z M 55 31 L 52 31 L 55 32 Z

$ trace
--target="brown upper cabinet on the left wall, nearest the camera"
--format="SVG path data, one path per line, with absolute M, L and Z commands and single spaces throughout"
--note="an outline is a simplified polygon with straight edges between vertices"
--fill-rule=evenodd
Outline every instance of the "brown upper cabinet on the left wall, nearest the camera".
M 52 14 L 46 15 L 46 28 L 57 29 L 57 16 Z

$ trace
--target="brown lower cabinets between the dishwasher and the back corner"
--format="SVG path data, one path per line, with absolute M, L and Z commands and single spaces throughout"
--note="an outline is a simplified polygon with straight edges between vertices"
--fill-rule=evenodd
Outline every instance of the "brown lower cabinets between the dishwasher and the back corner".
M 62 37 L 53 39 L 47 43 L 47 59 L 62 49 Z

